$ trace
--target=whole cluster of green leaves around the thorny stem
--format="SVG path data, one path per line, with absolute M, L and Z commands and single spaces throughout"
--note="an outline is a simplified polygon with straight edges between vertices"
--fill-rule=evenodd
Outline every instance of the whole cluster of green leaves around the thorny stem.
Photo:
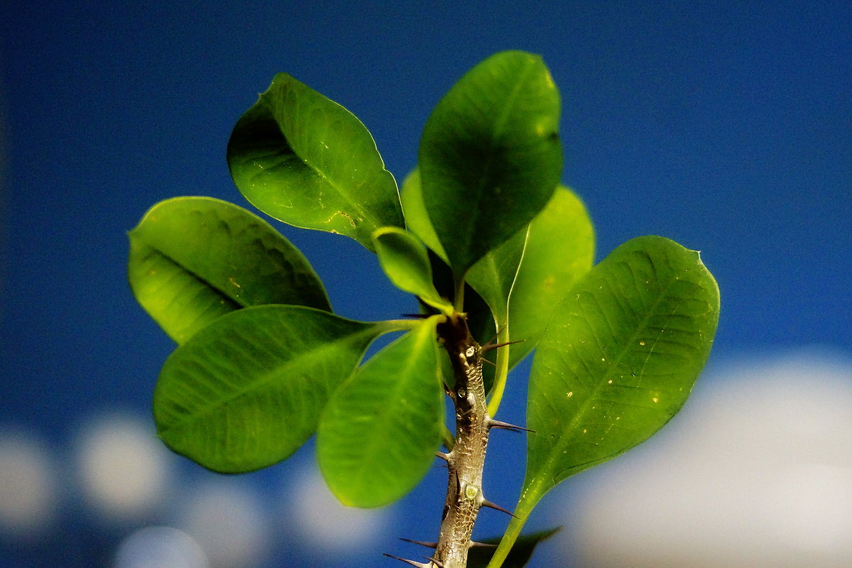
M 718 290 L 698 253 L 630 240 L 596 266 L 588 215 L 560 185 L 560 99 L 535 55 L 493 55 L 440 100 L 398 190 L 343 106 L 286 74 L 236 124 L 227 160 L 257 209 L 354 238 L 424 318 L 360 322 L 266 221 L 212 198 L 173 198 L 130 232 L 130 284 L 178 344 L 154 393 L 158 434 L 218 472 L 284 460 L 317 433 L 344 503 L 406 495 L 442 441 L 452 374 L 436 325 L 466 313 L 498 350 L 489 413 L 536 347 L 523 521 L 561 479 L 647 439 L 682 406 L 711 348 Z M 378 336 L 406 331 L 361 364 Z M 451 385 L 452 387 L 452 385 Z M 502 557 L 502 558 L 501 558 Z M 484 565 L 484 561 L 483 564 Z M 520 565 L 520 564 L 518 564 Z

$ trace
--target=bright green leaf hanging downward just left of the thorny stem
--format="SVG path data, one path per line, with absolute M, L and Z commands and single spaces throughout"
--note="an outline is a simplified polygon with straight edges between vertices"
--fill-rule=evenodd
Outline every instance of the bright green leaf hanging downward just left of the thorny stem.
M 423 479 L 440 445 L 440 382 L 435 318 L 429 318 L 331 397 L 317 433 L 317 459 L 344 505 L 380 507 Z

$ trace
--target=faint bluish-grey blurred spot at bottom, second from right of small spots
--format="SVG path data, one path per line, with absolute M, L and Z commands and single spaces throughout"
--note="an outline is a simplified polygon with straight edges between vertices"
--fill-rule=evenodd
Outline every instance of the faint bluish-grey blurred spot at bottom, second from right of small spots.
M 187 491 L 179 509 L 179 525 L 199 543 L 212 568 L 248 568 L 267 559 L 270 519 L 248 482 L 206 481 Z

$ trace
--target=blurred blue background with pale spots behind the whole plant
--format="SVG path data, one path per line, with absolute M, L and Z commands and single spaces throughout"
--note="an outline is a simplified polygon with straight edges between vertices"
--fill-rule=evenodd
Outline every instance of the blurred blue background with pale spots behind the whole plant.
M 154 436 L 174 345 L 135 304 L 127 239 L 176 195 L 247 206 L 225 146 L 289 72 L 354 112 L 401 181 L 440 96 L 503 49 L 561 89 L 562 180 L 600 260 L 660 234 L 722 290 L 710 363 L 651 441 L 546 496 L 531 566 L 852 565 L 852 4 L 45 3 L 0 7 L 0 566 L 394 566 L 433 540 L 446 471 L 339 507 L 313 448 L 250 475 Z M 412 302 L 354 241 L 276 223 L 338 313 Z M 504 420 L 524 422 L 529 361 Z M 523 436 L 495 433 L 514 506 Z M 485 511 L 476 536 L 502 533 Z

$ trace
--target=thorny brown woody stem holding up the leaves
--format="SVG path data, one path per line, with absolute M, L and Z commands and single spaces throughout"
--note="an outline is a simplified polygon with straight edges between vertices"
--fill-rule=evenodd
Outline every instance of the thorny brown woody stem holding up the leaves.
M 449 395 L 456 410 L 456 442 L 446 454 L 449 479 L 435 559 L 443 568 L 464 568 L 476 515 L 486 503 L 482 468 L 491 418 L 482 382 L 481 348 L 463 314 L 453 314 L 439 324 L 438 335 L 455 375 L 455 389 Z

